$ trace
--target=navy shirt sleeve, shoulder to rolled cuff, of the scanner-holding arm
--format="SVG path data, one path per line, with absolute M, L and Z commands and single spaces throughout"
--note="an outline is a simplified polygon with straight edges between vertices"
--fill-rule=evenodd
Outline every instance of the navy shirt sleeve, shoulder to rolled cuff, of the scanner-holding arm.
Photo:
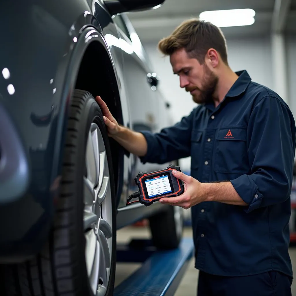
M 248 204 L 247 213 L 289 198 L 295 133 L 292 112 L 280 98 L 266 96 L 255 104 L 247 129 L 251 173 L 230 181 Z

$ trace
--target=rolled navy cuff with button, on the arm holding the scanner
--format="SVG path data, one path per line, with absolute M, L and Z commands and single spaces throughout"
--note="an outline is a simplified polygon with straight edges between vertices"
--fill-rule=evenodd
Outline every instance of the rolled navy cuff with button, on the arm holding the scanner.
M 250 213 L 258 209 L 262 202 L 263 194 L 258 191 L 258 186 L 249 175 L 242 175 L 230 181 L 241 199 L 249 206 L 244 210 Z

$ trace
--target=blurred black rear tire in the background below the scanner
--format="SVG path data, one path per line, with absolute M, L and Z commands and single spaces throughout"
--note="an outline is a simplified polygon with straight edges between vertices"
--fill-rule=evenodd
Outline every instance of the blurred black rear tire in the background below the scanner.
M 183 208 L 169 206 L 165 212 L 149 217 L 152 242 L 160 250 L 175 249 L 183 236 Z

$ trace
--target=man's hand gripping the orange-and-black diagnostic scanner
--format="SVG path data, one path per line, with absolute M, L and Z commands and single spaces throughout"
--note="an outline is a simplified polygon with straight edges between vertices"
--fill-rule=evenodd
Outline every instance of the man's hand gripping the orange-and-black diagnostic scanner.
M 173 175 L 184 182 L 184 193 L 176 197 L 161 198 L 159 201 L 162 204 L 179 206 L 187 210 L 206 200 L 206 192 L 202 183 L 177 170 L 173 170 Z

